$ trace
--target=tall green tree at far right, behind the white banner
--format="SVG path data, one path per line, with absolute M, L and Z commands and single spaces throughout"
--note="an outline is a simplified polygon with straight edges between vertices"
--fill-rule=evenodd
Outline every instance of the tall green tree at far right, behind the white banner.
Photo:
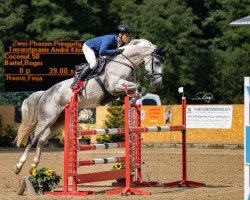
M 249 27 L 229 27 L 229 23 L 247 16 L 250 3 L 245 0 L 220 0 L 210 7 L 203 28 L 216 30 L 207 35 L 213 62 L 209 82 L 218 103 L 243 103 L 243 77 L 249 75 Z M 211 29 L 210 28 L 210 29 Z

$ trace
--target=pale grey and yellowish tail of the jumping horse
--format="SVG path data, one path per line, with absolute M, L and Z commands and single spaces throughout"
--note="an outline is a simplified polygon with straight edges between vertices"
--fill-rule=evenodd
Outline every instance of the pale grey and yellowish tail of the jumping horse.
M 26 146 L 29 136 L 34 132 L 38 122 L 38 102 L 42 97 L 44 91 L 38 91 L 31 94 L 23 101 L 22 104 L 22 123 L 18 128 L 17 137 L 15 139 L 16 145 Z

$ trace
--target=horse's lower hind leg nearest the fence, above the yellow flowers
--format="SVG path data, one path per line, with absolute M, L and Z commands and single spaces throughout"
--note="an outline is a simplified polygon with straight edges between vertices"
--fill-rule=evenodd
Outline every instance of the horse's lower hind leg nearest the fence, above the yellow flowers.
M 30 170 L 29 170 L 30 173 L 32 173 L 32 170 L 36 168 L 37 165 L 39 164 L 42 147 L 48 142 L 50 134 L 51 134 L 50 128 L 47 128 L 44 131 L 43 135 L 37 140 L 36 155 L 34 157 L 33 164 L 30 165 Z

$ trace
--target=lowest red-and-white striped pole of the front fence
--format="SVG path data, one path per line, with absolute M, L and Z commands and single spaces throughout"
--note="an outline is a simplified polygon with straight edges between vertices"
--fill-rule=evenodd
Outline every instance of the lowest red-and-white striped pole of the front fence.
M 97 158 L 92 160 L 80 160 L 78 166 L 107 164 L 125 161 L 125 157 Z

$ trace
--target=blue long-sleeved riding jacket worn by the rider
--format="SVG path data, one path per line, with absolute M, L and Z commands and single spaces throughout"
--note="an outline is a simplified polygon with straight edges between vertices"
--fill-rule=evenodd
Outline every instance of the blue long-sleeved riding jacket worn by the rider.
M 117 51 L 117 35 L 103 35 L 89 39 L 85 44 L 91 48 L 97 56 L 114 56 Z M 123 44 L 121 45 L 123 46 Z

